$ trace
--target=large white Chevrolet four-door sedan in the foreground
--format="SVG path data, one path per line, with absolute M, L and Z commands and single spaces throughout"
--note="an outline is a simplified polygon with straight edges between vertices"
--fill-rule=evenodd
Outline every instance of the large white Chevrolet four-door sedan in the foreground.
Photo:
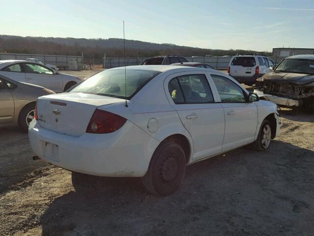
M 274 103 L 222 72 L 144 65 L 126 67 L 126 82 L 119 67 L 38 98 L 28 137 L 36 155 L 53 165 L 142 177 L 150 192 L 168 195 L 186 165 L 245 145 L 266 150 L 279 122 Z

